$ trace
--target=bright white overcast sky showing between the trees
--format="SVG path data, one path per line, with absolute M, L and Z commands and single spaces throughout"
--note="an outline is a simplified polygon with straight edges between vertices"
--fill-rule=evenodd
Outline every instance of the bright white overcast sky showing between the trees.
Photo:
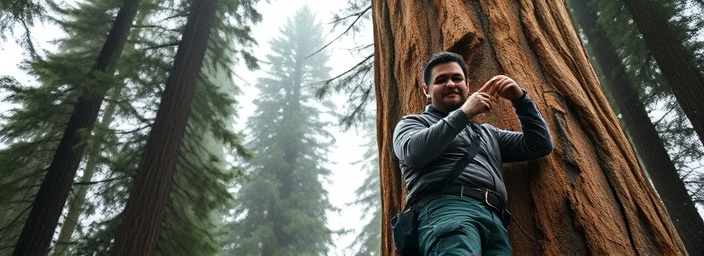
M 253 28 L 253 36 L 257 38 L 259 46 L 255 50 L 255 54 L 259 59 L 264 59 L 264 55 L 269 51 L 269 41 L 271 38 L 280 35 L 279 28 L 283 26 L 287 19 L 295 15 L 296 11 L 301 9 L 304 5 L 308 5 L 316 14 L 318 22 L 321 23 L 325 28 L 324 33 L 328 34 L 328 40 L 335 38 L 337 35 L 335 32 L 331 32 L 332 26 L 330 21 L 333 18 L 334 13 L 343 9 L 346 5 L 346 0 L 327 0 L 327 1 L 313 1 L 313 0 L 273 0 L 273 1 L 260 1 L 258 4 L 258 10 L 262 14 L 262 22 Z M 371 27 L 369 27 L 371 29 Z M 339 28 L 338 28 L 339 30 Z M 42 26 L 35 27 L 33 30 L 33 41 L 35 47 L 44 50 L 53 50 L 55 47 L 49 43 L 52 39 L 61 37 L 61 34 L 57 34 L 60 31 L 56 28 L 44 28 Z M 357 40 L 371 40 L 371 31 L 367 33 L 368 39 L 357 37 Z M 36 84 L 33 79 L 27 76 L 22 70 L 20 70 L 17 65 L 21 60 L 23 60 L 23 51 L 15 43 L 16 38 L 9 37 L 8 40 L 0 42 L 0 76 L 13 76 L 20 82 L 27 84 Z M 333 59 L 329 63 L 335 63 L 335 65 L 328 64 L 333 68 L 333 74 L 339 72 L 343 69 L 347 69 L 355 63 L 355 59 L 346 50 L 345 46 L 341 43 L 336 43 L 329 49 L 331 58 Z M 238 75 L 242 75 L 244 72 L 251 73 L 251 71 L 245 71 L 241 67 L 236 69 Z M 246 73 L 244 73 L 246 74 Z M 260 73 L 254 75 L 254 77 L 259 77 Z M 251 77 L 247 75 L 247 77 Z M 251 99 L 253 94 L 256 94 L 256 90 L 253 86 L 241 86 L 245 95 L 239 99 L 241 102 L 242 109 L 251 108 Z M 4 97 L 5 95 L 0 95 Z M 337 96 L 340 97 L 340 96 Z M 336 97 L 336 99 L 337 99 Z M 340 98 L 343 101 L 343 98 Z M 6 104 L 0 104 L 0 111 L 6 111 L 8 106 Z M 247 111 L 241 111 L 241 118 L 238 120 L 238 125 L 240 126 L 244 123 L 244 118 L 246 118 Z M 328 223 L 330 228 L 339 229 L 354 229 L 355 232 L 352 234 L 339 237 L 334 236 L 333 241 L 335 243 L 335 248 L 333 251 L 329 252 L 330 255 L 354 255 L 350 250 L 346 248 L 352 243 L 354 236 L 360 230 L 361 226 L 364 224 L 361 222 L 361 208 L 359 207 L 347 207 L 348 203 L 355 200 L 355 190 L 362 184 L 365 173 L 360 170 L 358 166 L 352 164 L 355 161 L 359 161 L 362 157 L 364 150 L 361 145 L 364 140 L 361 135 L 354 131 L 341 132 L 337 130 L 331 131 L 336 138 L 336 148 L 331 150 L 331 155 L 329 160 L 332 163 L 329 168 L 332 171 L 332 176 L 330 177 L 330 183 L 325 184 L 326 189 L 329 193 L 329 198 L 333 206 L 341 209 L 340 212 L 331 212 L 328 214 Z M 2 148 L 2 146 L 0 146 Z

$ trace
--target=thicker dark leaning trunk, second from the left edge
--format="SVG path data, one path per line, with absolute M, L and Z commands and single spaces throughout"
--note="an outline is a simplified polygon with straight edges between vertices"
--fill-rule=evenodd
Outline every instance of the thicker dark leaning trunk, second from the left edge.
M 218 0 L 193 0 L 111 255 L 153 255 Z

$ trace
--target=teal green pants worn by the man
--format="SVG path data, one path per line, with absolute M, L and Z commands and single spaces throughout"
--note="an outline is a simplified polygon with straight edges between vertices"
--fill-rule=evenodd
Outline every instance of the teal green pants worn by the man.
M 511 255 L 506 228 L 496 212 L 468 197 L 432 200 L 418 217 L 423 255 Z

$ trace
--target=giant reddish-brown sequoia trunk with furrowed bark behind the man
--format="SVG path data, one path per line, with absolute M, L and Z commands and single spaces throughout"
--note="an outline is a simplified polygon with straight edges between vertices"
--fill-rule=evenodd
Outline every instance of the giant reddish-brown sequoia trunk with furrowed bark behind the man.
M 465 56 L 470 90 L 496 74 L 524 86 L 555 150 L 505 166 L 509 207 L 537 243 L 509 227 L 517 255 L 676 255 L 682 246 L 600 90 L 562 1 L 374 1 L 375 82 L 383 205 L 382 253 L 393 254 L 390 216 L 405 188 L 391 134 L 420 112 L 423 62 Z M 508 102 L 481 122 L 520 129 Z

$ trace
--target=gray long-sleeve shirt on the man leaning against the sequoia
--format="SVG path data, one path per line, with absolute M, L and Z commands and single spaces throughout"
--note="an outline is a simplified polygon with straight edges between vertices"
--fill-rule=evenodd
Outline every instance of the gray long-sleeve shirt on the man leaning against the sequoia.
M 512 104 L 522 132 L 474 124 L 459 109 L 445 115 L 431 105 L 421 114 L 405 116 L 396 125 L 393 146 L 408 189 L 406 200 L 440 192 L 443 179 L 474 138 L 481 140 L 477 155 L 455 184 L 488 188 L 506 200 L 501 163 L 536 159 L 553 149 L 547 124 L 528 95 Z

